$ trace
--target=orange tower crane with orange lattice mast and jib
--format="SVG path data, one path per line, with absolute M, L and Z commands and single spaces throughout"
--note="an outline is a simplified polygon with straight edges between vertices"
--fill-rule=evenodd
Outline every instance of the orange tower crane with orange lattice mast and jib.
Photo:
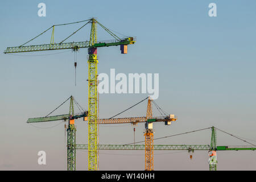
M 165 125 L 171 125 L 172 121 L 176 121 L 177 117 L 174 114 L 165 115 L 162 117 L 152 117 L 152 106 L 151 102 L 153 100 L 148 98 L 147 102 L 147 114 L 146 117 L 134 117 L 134 118 L 109 118 L 109 119 L 98 119 L 98 124 L 118 124 L 118 123 L 145 123 L 145 170 L 153 171 L 154 170 L 154 131 L 153 123 L 154 122 L 165 122 Z M 146 98 L 146 99 L 147 99 Z M 146 100 L 144 99 L 144 100 Z M 141 101 L 142 102 L 142 101 Z M 153 101 L 154 102 L 154 101 Z M 84 119 L 86 121 L 86 119 Z

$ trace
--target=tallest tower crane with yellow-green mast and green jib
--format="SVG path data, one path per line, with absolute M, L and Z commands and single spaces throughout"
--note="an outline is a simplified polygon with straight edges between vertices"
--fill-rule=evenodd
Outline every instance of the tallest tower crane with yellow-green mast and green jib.
M 67 26 L 69 24 L 86 22 L 82 27 L 73 32 L 67 38 L 65 38 L 60 43 L 54 42 L 54 32 L 55 27 L 57 26 Z M 77 31 L 81 30 L 86 24 L 92 24 L 90 28 L 90 40 L 86 42 L 69 42 L 65 43 L 65 40 L 70 38 L 72 35 L 76 34 Z M 114 40 L 107 41 L 98 41 L 97 40 L 97 24 L 102 27 L 108 34 L 110 34 Z M 38 38 L 40 35 L 43 35 L 48 30 L 52 29 L 51 42 L 49 44 L 39 44 L 33 46 L 24 46 L 25 44 L 31 42 L 32 40 Z M 72 23 L 64 23 L 64 24 L 55 24 L 49 27 L 47 30 L 43 31 L 41 34 L 32 38 L 28 42 L 22 44 L 18 47 L 7 47 L 4 53 L 19 53 L 19 52 L 35 52 L 35 51 L 50 51 L 50 50 L 60 50 L 60 49 L 72 49 L 73 51 L 77 51 L 80 48 L 88 48 L 88 170 L 94 171 L 97 170 L 97 141 L 98 141 L 98 133 L 97 133 L 97 117 L 98 117 L 98 90 L 97 90 L 97 76 L 98 76 L 98 59 L 97 59 L 97 48 L 99 47 L 109 47 L 109 46 L 120 46 L 121 53 L 127 53 L 127 45 L 134 44 L 135 37 L 126 37 L 119 38 L 108 28 L 103 26 L 98 20 L 95 18 L 90 18 L 87 20 L 82 20 L 80 22 L 72 22 Z M 76 62 L 75 62 L 76 67 Z

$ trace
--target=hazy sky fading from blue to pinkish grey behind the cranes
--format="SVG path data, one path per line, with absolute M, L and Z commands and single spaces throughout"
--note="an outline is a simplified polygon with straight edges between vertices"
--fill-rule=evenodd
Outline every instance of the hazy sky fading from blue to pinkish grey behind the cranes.
M 46 3 L 46 17 L 38 16 L 38 4 Z M 217 17 L 208 15 L 209 3 L 217 5 Z M 77 86 L 74 54 L 45 51 L 5 55 L 6 47 L 20 46 L 53 24 L 96 17 L 104 26 L 137 42 L 127 55 L 119 47 L 98 49 L 98 72 L 159 73 L 156 103 L 178 119 L 173 125 L 155 123 L 155 138 L 216 126 L 256 143 L 255 30 L 256 1 L 3 1 L 0 6 L 0 169 L 66 170 L 64 123 L 26 123 L 43 117 L 71 94 L 88 108 L 87 49 L 77 53 Z M 82 24 L 55 28 L 55 42 L 65 39 Z M 67 42 L 89 39 L 84 27 Z M 122 36 L 117 34 L 118 36 Z M 113 39 L 98 27 L 98 40 Z M 32 41 L 49 43 L 51 32 Z M 54 55 L 48 55 L 57 53 Z M 101 94 L 100 118 L 108 118 L 146 98 L 147 94 Z M 68 113 L 68 104 L 53 114 Z M 146 102 L 120 115 L 146 115 Z M 154 108 L 154 115 L 160 115 Z M 59 124 L 59 125 L 58 125 Z M 57 126 L 56 126 L 57 125 Z M 87 123 L 77 121 L 77 143 L 88 143 Z M 54 127 L 53 127 L 54 126 Z M 46 129 L 40 129 L 44 127 Z M 137 126 L 137 141 L 144 125 Z M 254 141 L 252 141 L 254 140 Z M 100 126 L 101 144 L 133 142 L 133 127 Z M 210 130 L 181 135 L 155 144 L 209 144 Z M 217 133 L 218 146 L 246 145 Z M 46 151 L 47 164 L 37 164 L 37 153 Z M 217 152 L 218 170 L 256 170 L 255 151 Z M 77 169 L 87 170 L 87 151 L 77 151 Z M 208 170 L 207 151 L 155 151 L 155 170 Z M 100 151 L 101 170 L 143 170 L 144 151 Z

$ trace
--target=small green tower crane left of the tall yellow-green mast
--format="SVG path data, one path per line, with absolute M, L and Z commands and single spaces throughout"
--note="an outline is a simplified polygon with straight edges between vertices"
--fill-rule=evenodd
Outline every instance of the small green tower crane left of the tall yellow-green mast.
M 53 111 L 55 111 L 57 108 L 59 108 L 61 105 L 63 105 L 65 102 L 70 100 L 69 104 L 69 114 L 62 114 L 62 115 L 54 115 L 54 116 L 48 116 Z M 69 97 L 63 104 L 61 104 L 59 107 L 57 107 L 55 110 L 53 110 L 50 114 L 48 114 L 46 117 L 40 117 L 40 118 L 29 118 L 27 120 L 27 123 L 39 123 L 39 122 L 48 122 L 48 121 L 67 121 L 68 120 L 68 126 L 67 126 L 67 164 L 68 164 L 68 171 L 75 171 L 76 170 L 76 126 L 75 126 L 75 119 L 78 118 L 84 118 L 88 117 L 88 111 L 82 111 L 80 114 L 74 114 L 74 105 L 73 101 L 75 101 L 76 104 L 77 101 L 74 99 L 73 96 Z M 77 105 L 79 107 L 79 105 Z M 80 109 L 81 110 L 81 109 Z M 66 128 L 66 127 L 65 127 Z

